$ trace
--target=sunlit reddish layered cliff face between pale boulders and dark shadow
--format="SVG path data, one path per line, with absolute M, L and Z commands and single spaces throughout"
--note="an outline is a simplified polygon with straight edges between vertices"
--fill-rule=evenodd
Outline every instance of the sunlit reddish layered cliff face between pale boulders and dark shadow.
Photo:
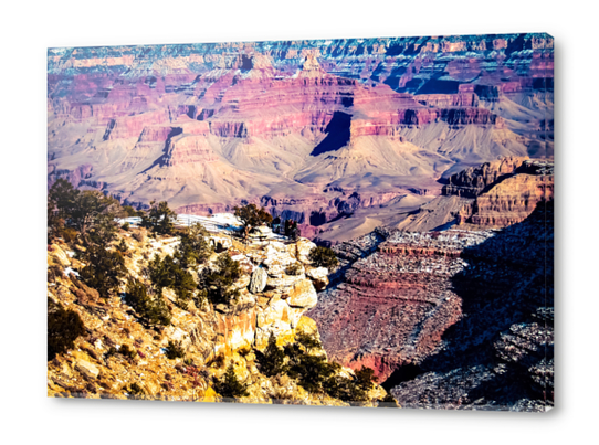
M 451 283 L 466 264 L 461 253 L 490 235 L 379 232 L 376 252 L 350 263 L 341 283 L 308 312 L 329 356 L 351 368 L 367 364 L 385 381 L 434 353 L 444 331 L 462 316 Z M 341 246 L 334 248 L 343 256 Z

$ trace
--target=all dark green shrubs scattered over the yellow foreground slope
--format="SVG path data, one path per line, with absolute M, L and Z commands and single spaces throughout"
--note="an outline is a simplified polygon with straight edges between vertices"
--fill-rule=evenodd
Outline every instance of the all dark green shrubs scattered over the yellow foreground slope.
M 213 264 L 199 273 L 198 282 L 193 278 L 192 268 L 206 264 L 213 253 L 213 248 L 207 242 L 208 232 L 200 224 L 176 231 L 172 221 L 175 213 L 168 209 L 166 202 L 159 204 L 153 202 L 150 211 L 143 216 L 143 225 L 151 230 L 150 237 L 156 234 L 179 234 L 180 244 L 176 247 L 174 255 L 164 257 L 155 255 L 147 268 L 141 271 L 144 278 L 137 279 L 127 277 L 123 254 L 127 254 L 128 257 L 137 255 L 137 248 L 140 245 L 134 243 L 133 240 L 143 243 L 147 232 L 144 229 L 132 230 L 128 224 L 123 224 L 122 229 L 130 231 L 132 237 L 127 242 L 125 239 L 117 239 L 115 242 L 115 239 L 119 236 L 115 214 L 133 215 L 138 214 L 137 211 L 133 208 L 119 208 L 116 200 L 106 198 L 99 192 L 85 193 L 75 190 L 66 181 L 61 181 L 51 195 L 49 224 L 52 224 L 52 235 L 59 236 L 60 234 L 66 242 L 77 241 L 77 245 L 71 248 L 77 252 L 77 259 L 85 264 L 80 271 L 81 282 L 75 277 L 71 279 L 76 287 L 74 294 L 77 297 L 77 304 L 98 301 L 98 294 L 104 298 L 115 295 L 126 283 L 124 301 L 135 309 L 139 322 L 147 329 L 154 328 L 156 330 L 154 340 L 161 341 L 160 326 L 167 326 L 171 322 L 169 305 L 162 298 L 165 288 L 175 292 L 176 304 L 181 308 L 188 308 L 191 300 L 197 304 L 203 304 L 204 300 L 208 300 L 218 305 L 231 304 L 238 298 L 240 292 L 233 288 L 233 284 L 241 277 L 242 269 L 239 262 L 233 261 L 224 248 L 222 250 L 225 252 L 220 254 Z M 264 209 L 258 209 L 255 205 L 237 209 L 237 213 L 238 216 L 243 216 L 246 226 L 269 223 L 272 220 Z M 298 231 L 293 232 L 294 227 L 297 227 L 297 223 L 290 222 L 288 229 L 296 236 Z M 120 236 L 123 236 L 123 232 L 120 232 Z M 330 253 L 327 253 L 324 247 L 319 247 L 318 251 L 315 250 L 311 253 L 311 259 L 316 266 L 325 264 L 330 266 L 332 263 L 336 263 L 334 254 L 332 258 Z M 147 251 L 141 251 L 139 254 L 146 255 L 145 258 L 148 258 Z M 298 276 L 304 272 L 304 267 L 295 262 L 290 264 L 285 272 L 287 275 Z M 49 268 L 49 280 L 55 282 L 56 277 L 62 274 L 62 267 L 53 266 Z M 91 292 L 94 295 L 90 296 Z M 99 304 L 102 305 L 102 301 Z M 125 338 L 135 332 L 129 326 L 120 326 L 119 328 Z M 85 326 L 76 311 L 66 310 L 54 304 L 49 310 L 49 359 L 73 348 L 76 338 L 85 333 Z M 105 338 L 105 345 L 109 349 L 104 358 L 94 356 L 93 348 L 85 349 L 84 346 L 81 348 L 98 361 L 116 356 L 119 360 L 125 359 L 129 363 L 134 363 L 133 360 L 138 356 L 145 359 L 147 354 L 141 349 L 137 350 L 143 345 L 143 340 L 139 338 L 135 340 L 135 347 L 123 343 L 117 349 L 116 342 L 111 341 L 108 337 Z M 311 393 L 328 394 L 343 400 L 367 400 L 367 393 L 372 382 L 371 370 L 360 370 L 350 378 L 341 377 L 339 364 L 327 362 L 325 356 L 314 354 L 314 351 L 320 350 L 320 348 L 322 345 L 315 333 L 298 332 L 295 342 L 286 345 L 284 348 L 279 347 L 276 338 L 271 335 L 269 343 L 262 352 L 244 348 L 239 353 L 250 361 L 253 360 L 255 353 L 255 360 L 262 374 L 270 378 L 283 375 L 287 380 L 295 379 L 298 385 Z M 204 380 L 210 378 L 207 372 L 206 375 L 201 374 L 191 357 L 192 354 L 186 356 L 186 349 L 181 341 L 169 340 L 165 348 L 165 356 L 169 360 L 183 359 L 175 368 L 181 374 L 191 377 L 193 385 L 200 385 L 200 377 Z M 225 363 L 225 356 L 219 353 L 207 365 L 222 370 Z M 174 389 L 170 381 L 164 383 L 164 386 L 168 391 Z M 140 384 L 132 383 L 122 388 L 130 398 L 146 396 Z M 249 384 L 235 375 L 233 363 L 227 367 L 221 379 L 213 379 L 213 388 L 227 399 L 249 395 Z

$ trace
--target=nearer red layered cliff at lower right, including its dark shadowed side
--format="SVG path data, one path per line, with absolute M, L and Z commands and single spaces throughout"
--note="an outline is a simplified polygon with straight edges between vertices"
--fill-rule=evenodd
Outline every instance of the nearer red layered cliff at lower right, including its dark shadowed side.
M 553 201 L 494 231 L 379 230 L 308 311 L 329 357 L 374 368 L 402 406 L 553 406 Z

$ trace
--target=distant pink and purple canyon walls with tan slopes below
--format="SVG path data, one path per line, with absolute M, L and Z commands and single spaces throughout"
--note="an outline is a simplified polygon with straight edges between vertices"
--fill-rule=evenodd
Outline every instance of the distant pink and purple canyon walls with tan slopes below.
M 189 213 L 263 202 L 319 226 L 430 200 L 497 156 L 550 157 L 553 39 L 51 49 L 48 103 L 50 183 Z

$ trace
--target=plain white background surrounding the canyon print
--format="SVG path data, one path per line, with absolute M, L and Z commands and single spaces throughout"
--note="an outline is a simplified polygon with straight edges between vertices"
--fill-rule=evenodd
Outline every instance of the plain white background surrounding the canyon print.
M 0 441 L 597 443 L 597 13 L 586 1 L 3 2 Z M 45 398 L 48 46 L 548 32 L 556 39 L 557 407 L 546 414 Z

